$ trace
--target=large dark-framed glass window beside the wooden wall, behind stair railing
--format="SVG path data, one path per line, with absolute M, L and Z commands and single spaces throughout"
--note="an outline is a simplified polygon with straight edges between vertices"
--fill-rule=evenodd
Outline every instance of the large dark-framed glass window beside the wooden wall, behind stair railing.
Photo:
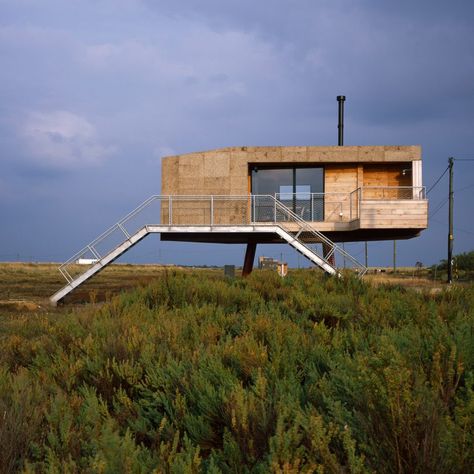
M 253 165 L 251 179 L 252 194 L 275 196 L 305 220 L 324 220 L 324 168 Z M 255 218 L 265 220 L 272 215 L 271 208 L 266 209 L 269 203 L 264 199 L 259 202 Z

